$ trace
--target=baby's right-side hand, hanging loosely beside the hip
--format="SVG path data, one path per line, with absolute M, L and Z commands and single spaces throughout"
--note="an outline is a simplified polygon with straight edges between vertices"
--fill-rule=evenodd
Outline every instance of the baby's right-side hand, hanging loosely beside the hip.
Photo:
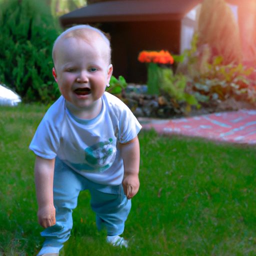
M 127 198 L 130 199 L 131 197 L 133 197 L 137 193 L 139 188 L 138 174 L 124 172 L 122 186 Z

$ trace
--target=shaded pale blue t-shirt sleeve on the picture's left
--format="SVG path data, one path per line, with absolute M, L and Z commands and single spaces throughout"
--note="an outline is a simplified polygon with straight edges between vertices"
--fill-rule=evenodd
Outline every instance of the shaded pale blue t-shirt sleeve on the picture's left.
M 29 145 L 36 155 L 53 159 L 59 146 L 59 131 L 47 118 L 42 119 Z

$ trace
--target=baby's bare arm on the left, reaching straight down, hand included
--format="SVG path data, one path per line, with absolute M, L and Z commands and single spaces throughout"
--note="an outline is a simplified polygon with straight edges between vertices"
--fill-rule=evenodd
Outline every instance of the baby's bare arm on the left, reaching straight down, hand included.
M 45 159 L 36 155 L 34 181 L 38 204 L 38 223 L 46 228 L 55 224 L 53 205 L 53 173 L 55 158 Z

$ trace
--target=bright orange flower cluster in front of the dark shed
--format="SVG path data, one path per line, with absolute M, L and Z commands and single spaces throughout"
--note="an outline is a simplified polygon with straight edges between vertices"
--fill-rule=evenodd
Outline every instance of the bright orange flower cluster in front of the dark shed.
M 153 62 L 160 64 L 172 64 L 173 57 L 166 50 L 157 51 L 141 51 L 138 55 L 138 61 L 140 62 Z

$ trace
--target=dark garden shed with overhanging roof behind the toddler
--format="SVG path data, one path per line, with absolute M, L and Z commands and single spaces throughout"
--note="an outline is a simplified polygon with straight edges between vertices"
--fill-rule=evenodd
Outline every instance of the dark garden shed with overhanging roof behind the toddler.
M 202 1 L 101 0 L 62 15 L 59 20 L 63 27 L 88 23 L 108 32 L 113 75 L 123 75 L 128 82 L 144 83 L 146 67 L 137 61 L 138 53 L 161 49 L 182 53 L 189 46 L 195 23 L 195 12 L 191 10 Z

